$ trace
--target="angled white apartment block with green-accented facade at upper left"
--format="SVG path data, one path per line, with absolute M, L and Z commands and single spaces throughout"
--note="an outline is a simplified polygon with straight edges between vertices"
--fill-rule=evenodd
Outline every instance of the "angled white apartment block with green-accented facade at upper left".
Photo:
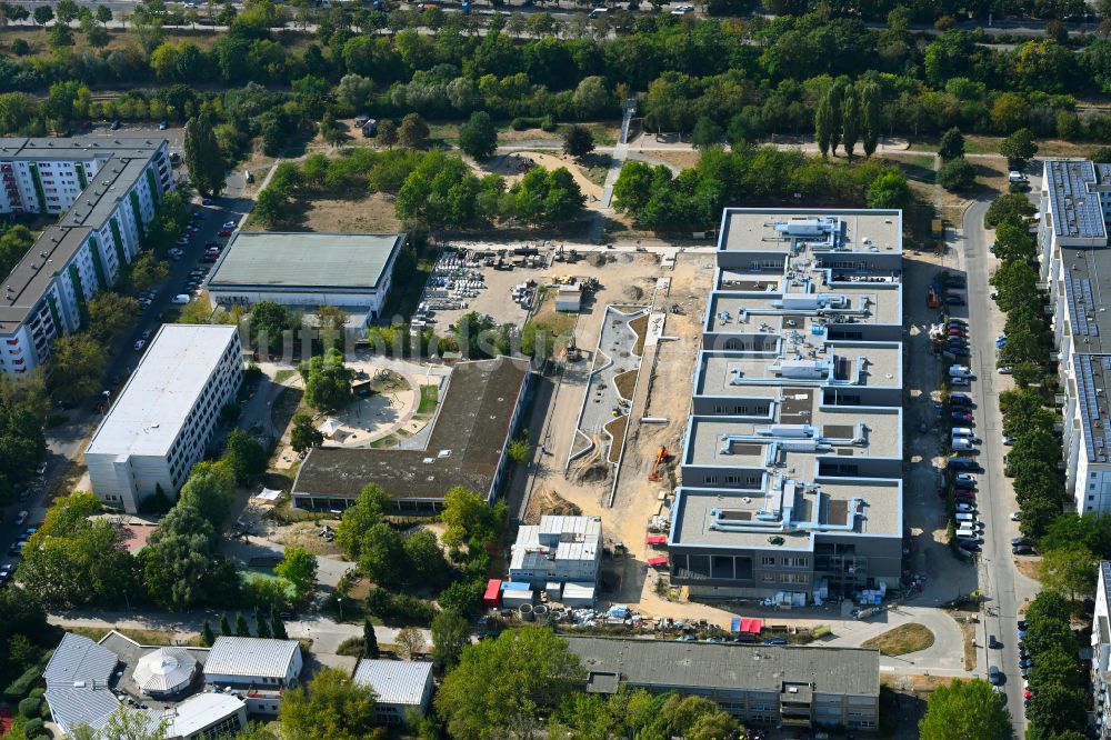
M 0 371 L 41 364 L 81 327 L 81 304 L 119 280 L 162 194 L 173 188 L 159 139 L 0 139 L 2 213 L 59 214 L 12 269 L 0 299 Z

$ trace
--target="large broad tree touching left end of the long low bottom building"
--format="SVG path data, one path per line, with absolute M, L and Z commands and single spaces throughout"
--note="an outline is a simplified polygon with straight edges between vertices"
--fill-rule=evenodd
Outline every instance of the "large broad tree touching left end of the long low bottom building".
M 551 630 L 507 630 L 463 648 L 436 707 L 451 737 L 489 737 L 492 729 L 558 706 L 582 676 L 579 659 Z

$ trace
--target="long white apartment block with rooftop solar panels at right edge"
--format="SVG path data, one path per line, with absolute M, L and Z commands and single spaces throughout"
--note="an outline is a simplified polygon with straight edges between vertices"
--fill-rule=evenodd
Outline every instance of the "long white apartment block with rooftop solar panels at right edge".
M 1038 230 L 1063 392 L 1065 484 L 1078 513 L 1111 511 L 1111 164 L 1047 160 Z M 1108 347 L 1103 347 L 1104 342 Z

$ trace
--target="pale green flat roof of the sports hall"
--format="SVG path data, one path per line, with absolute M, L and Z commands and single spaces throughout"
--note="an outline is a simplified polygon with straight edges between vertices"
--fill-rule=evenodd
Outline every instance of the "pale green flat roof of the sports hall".
M 239 231 L 217 262 L 209 286 L 371 289 L 404 240 L 403 233 Z

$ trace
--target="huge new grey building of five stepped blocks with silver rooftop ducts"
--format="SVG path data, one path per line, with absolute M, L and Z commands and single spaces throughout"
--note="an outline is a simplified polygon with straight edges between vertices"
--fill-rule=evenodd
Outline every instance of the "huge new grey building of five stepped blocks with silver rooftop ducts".
M 671 582 L 800 604 L 902 573 L 902 217 L 727 209 Z

